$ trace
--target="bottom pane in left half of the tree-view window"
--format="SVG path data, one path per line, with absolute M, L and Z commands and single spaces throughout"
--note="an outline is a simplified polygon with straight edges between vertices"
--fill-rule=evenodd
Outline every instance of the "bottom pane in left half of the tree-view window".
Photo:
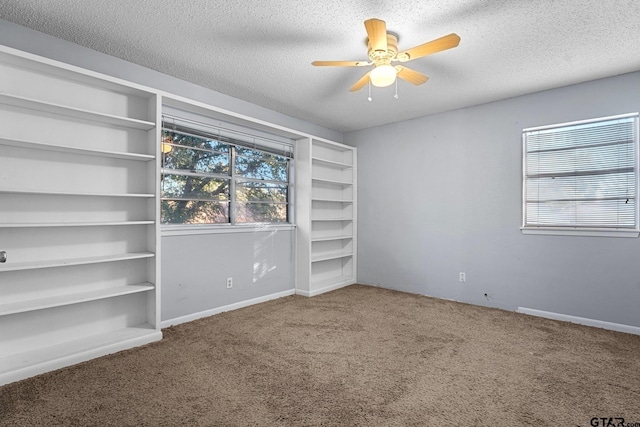
M 228 201 L 163 200 L 163 224 L 219 224 L 229 222 Z

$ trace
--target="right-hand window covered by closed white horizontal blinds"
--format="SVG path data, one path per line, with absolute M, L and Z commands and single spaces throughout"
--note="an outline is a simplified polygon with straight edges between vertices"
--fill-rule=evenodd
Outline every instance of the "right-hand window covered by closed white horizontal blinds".
M 523 151 L 523 231 L 638 235 L 637 113 L 524 129 Z

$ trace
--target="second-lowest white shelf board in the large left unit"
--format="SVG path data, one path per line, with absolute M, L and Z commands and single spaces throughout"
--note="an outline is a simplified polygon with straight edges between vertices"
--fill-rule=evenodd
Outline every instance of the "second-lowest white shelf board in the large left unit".
M 37 298 L 30 300 L 16 301 L 7 304 L 0 304 L 0 316 L 9 314 L 24 313 L 27 311 L 44 310 L 47 308 L 60 307 L 63 305 L 78 304 L 95 301 L 105 298 L 113 298 L 122 295 L 129 295 L 138 292 L 153 290 L 151 283 L 137 285 L 117 286 L 105 289 L 96 289 L 86 292 L 75 292 L 70 294 L 56 295 L 53 297 Z

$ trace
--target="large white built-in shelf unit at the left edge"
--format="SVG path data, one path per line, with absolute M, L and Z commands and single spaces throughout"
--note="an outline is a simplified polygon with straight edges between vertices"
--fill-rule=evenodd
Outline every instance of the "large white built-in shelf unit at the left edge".
M 0 384 L 162 337 L 159 98 L 0 47 Z

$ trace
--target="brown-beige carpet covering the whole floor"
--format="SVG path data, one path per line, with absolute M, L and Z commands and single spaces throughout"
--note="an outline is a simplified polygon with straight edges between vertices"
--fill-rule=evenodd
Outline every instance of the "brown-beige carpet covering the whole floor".
M 164 333 L 1 387 L 0 425 L 640 426 L 635 335 L 359 285 Z

